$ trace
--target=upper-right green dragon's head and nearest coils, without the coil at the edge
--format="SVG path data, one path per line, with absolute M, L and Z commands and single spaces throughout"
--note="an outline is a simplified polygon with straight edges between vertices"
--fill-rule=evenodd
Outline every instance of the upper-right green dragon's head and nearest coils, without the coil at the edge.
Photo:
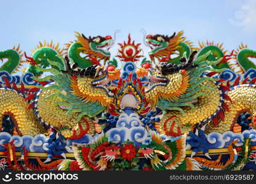
M 219 58 L 223 58 L 218 64 L 213 66 L 214 68 L 230 68 L 228 63 L 226 63 L 230 58 L 227 58 L 229 55 L 226 55 L 222 44 L 215 45 L 214 42 L 208 41 L 206 43 L 199 42 L 200 48 L 194 48 L 193 43 L 182 36 L 183 31 L 178 32 L 176 36 L 174 33 L 171 37 L 161 34 L 146 36 L 145 43 L 151 49 L 149 52 L 150 58 L 153 61 L 155 60 L 154 58 L 157 58 L 159 62 L 180 64 L 180 58 L 182 58 L 183 55 L 186 55 L 188 58 L 194 50 L 198 50 L 198 56 L 204 55 L 210 51 L 210 55 L 206 58 L 207 61 L 215 61 Z M 172 57 L 172 55 L 175 56 Z

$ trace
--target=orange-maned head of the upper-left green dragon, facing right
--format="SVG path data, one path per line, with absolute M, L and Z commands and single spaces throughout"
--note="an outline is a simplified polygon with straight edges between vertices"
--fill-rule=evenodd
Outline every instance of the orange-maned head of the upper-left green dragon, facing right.
M 104 59 L 104 61 L 110 59 L 109 50 L 114 44 L 111 36 L 89 36 L 87 38 L 84 34 L 77 33 L 76 37 L 78 43 L 82 45 L 81 50 L 83 53 L 98 59 Z

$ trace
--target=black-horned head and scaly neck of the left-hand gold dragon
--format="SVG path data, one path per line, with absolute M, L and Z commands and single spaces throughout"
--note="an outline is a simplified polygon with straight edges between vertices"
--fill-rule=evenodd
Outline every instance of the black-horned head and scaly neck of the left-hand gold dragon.
M 86 102 L 98 102 L 106 106 L 111 104 L 113 93 L 106 88 L 110 80 L 104 67 L 95 64 L 86 69 L 79 69 L 77 63 L 71 66 L 68 62 L 66 64 L 67 70 L 63 72 L 71 74 L 71 88 L 75 96 Z

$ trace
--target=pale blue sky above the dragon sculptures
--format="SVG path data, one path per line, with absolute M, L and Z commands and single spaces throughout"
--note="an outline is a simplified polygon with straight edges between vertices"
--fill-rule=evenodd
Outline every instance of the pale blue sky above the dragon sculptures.
M 226 50 L 243 42 L 256 49 L 256 1 L 7 1 L 0 0 L 0 50 L 20 44 L 23 51 L 39 41 L 63 45 L 74 40 L 74 31 L 86 36 L 111 35 L 121 29 L 117 42 L 130 33 L 143 42 L 148 34 L 172 34 L 183 30 L 188 40 L 223 43 Z M 144 48 L 145 56 L 148 48 Z

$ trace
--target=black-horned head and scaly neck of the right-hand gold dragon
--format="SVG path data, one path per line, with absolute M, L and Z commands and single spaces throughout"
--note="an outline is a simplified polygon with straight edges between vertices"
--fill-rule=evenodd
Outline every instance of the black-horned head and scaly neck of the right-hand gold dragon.
M 172 101 L 186 92 L 190 85 L 188 71 L 194 67 L 193 57 L 195 54 L 196 52 L 188 60 L 181 58 L 182 64 L 165 62 L 150 70 L 150 84 L 145 94 L 151 105 L 156 105 L 159 98 Z

